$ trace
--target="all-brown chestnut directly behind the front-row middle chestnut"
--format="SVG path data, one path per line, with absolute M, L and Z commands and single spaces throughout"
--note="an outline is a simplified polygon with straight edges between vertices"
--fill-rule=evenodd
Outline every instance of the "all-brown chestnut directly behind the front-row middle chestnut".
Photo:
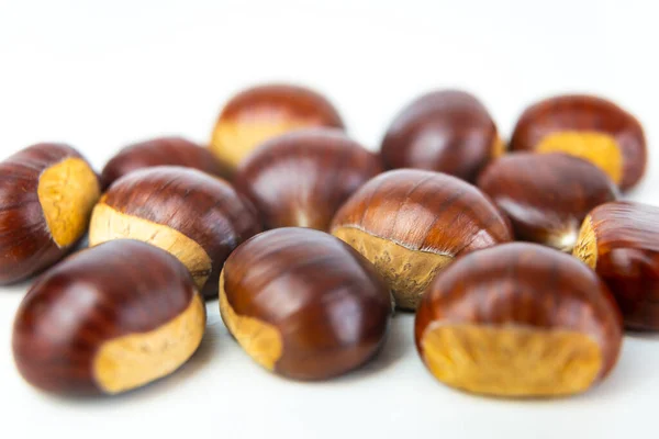
M 234 184 L 266 228 L 327 230 L 346 199 L 380 172 L 379 157 L 342 131 L 308 128 L 263 144 L 241 165 Z

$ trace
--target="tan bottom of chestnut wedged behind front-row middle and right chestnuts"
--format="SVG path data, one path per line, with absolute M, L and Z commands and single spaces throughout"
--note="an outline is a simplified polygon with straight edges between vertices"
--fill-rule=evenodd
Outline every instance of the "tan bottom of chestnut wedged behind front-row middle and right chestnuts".
M 395 304 L 404 309 L 416 309 L 426 286 L 454 260 L 453 256 L 413 250 L 351 226 L 337 227 L 332 234 L 376 266 L 391 286 Z

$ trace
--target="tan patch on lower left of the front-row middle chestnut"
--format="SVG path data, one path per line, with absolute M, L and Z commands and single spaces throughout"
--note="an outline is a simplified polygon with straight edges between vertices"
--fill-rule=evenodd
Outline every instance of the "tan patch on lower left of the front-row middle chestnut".
M 283 351 L 281 334 L 273 325 L 234 312 L 224 291 L 224 270 L 220 274 L 220 315 L 245 352 L 264 368 L 273 370 Z

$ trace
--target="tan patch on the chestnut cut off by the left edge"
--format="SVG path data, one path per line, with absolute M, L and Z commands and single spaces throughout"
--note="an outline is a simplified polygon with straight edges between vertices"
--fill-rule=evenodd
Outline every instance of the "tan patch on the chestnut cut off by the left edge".
M 70 157 L 41 173 L 36 194 L 53 241 L 65 248 L 85 235 L 101 189 L 89 165 Z

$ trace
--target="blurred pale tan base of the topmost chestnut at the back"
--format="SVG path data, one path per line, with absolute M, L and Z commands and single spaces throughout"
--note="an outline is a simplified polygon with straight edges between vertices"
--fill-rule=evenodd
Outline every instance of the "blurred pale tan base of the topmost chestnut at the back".
M 217 122 L 213 130 L 210 149 L 222 162 L 236 168 L 264 142 L 305 126 L 313 121 L 273 117 L 271 122 Z

